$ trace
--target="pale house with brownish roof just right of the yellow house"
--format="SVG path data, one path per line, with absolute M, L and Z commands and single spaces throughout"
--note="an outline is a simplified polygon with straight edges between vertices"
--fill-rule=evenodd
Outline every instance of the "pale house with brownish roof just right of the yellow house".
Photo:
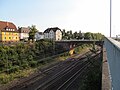
M 28 40 L 30 29 L 27 27 L 19 27 L 19 38 L 20 40 Z

